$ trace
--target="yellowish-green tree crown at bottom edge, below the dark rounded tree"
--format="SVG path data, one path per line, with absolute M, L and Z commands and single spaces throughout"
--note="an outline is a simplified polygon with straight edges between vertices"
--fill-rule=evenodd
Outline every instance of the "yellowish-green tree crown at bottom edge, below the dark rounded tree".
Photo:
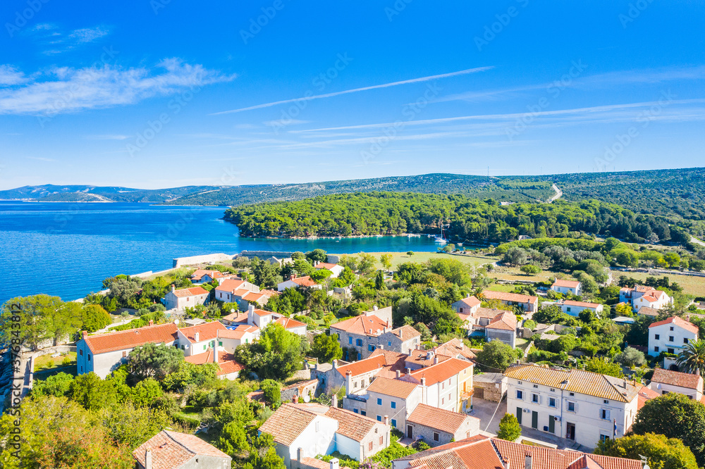
M 617 458 L 636 459 L 646 456 L 652 469 L 697 469 L 692 451 L 678 438 L 663 434 L 632 434 L 618 439 L 603 439 L 597 443 L 595 454 Z

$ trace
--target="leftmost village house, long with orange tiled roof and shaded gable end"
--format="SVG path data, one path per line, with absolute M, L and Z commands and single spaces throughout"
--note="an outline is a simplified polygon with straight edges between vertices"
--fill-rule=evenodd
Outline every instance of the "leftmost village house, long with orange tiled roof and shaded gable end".
M 177 343 L 178 327 L 174 323 L 149 325 L 139 329 L 107 332 L 106 334 L 88 335 L 76 343 L 76 371 L 79 375 L 91 371 L 105 378 L 123 363 L 127 363 L 130 351 L 145 344 Z

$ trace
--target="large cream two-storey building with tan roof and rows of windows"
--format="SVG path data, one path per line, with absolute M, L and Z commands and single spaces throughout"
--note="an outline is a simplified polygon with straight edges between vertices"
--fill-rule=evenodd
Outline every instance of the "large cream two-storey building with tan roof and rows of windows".
M 512 365 L 507 411 L 520 425 L 594 448 L 623 437 L 637 414 L 641 384 L 582 370 Z

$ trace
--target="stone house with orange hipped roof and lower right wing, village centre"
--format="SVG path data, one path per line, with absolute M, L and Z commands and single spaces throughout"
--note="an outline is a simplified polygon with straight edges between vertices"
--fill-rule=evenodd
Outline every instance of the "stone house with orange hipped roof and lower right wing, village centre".
M 391 328 L 392 308 L 375 308 L 363 315 L 331 325 L 342 347 L 355 349 L 357 359 L 367 358 L 376 349 L 408 352 L 421 343 L 421 333 L 409 325 Z

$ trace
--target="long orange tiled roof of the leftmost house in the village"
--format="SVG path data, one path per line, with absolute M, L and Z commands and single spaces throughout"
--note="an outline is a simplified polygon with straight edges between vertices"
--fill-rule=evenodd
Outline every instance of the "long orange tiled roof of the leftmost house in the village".
M 174 323 L 121 330 L 106 334 L 89 335 L 86 344 L 94 355 L 109 351 L 134 349 L 144 344 L 172 344 L 176 340 L 178 327 Z

